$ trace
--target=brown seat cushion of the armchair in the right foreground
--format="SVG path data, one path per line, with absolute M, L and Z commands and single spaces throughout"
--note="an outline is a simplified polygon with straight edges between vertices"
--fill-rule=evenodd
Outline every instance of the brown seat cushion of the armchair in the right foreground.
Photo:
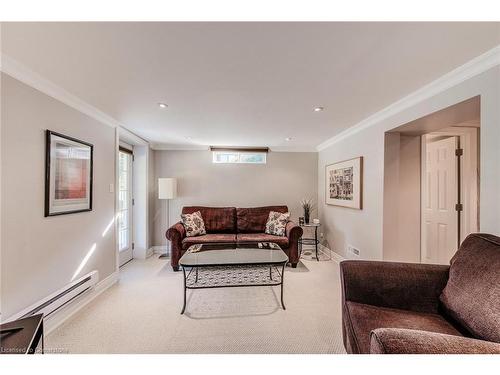
M 359 353 L 370 353 L 370 332 L 377 328 L 407 328 L 420 331 L 462 336 L 441 315 L 391 309 L 346 302 L 348 324 L 358 346 Z

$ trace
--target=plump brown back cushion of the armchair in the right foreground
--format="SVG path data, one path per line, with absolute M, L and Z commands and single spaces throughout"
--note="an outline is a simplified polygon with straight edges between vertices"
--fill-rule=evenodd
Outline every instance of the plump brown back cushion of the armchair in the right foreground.
M 500 238 L 469 235 L 451 260 L 440 296 L 445 312 L 472 336 L 500 343 Z

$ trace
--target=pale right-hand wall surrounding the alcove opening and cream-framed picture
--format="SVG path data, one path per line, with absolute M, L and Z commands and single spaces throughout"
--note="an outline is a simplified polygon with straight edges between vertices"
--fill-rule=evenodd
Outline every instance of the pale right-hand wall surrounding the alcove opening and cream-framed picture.
M 347 244 L 352 244 L 361 250 L 361 258 L 383 259 L 384 133 L 476 95 L 481 95 L 480 230 L 499 235 L 499 90 L 500 67 L 497 65 L 321 150 L 318 156 L 319 211 L 331 248 L 349 257 L 345 249 Z M 364 157 L 363 210 L 325 205 L 325 165 L 357 156 Z

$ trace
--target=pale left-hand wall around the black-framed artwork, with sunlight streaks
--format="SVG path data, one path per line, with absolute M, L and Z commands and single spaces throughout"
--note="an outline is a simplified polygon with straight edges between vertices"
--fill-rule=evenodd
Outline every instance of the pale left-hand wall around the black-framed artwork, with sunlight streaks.
M 115 129 L 2 74 L 2 318 L 68 284 L 79 275 L 116 270 Z M 94 145 L 93 210 L 44 217 L 45 129 Z

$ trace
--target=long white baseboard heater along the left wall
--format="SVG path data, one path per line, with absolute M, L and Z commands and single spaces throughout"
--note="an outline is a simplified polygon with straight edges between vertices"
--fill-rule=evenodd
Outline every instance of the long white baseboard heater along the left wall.
M 60 308 L 71 303 L 75 298 L 92 289 L 98 281 L 99 272 L 92 271 L 27 307 L 21 312 L 11 316 L 8 320 L 11 321 L 26 318 L 34 314 L 43 314 L 44 318 L 47 318 Z

